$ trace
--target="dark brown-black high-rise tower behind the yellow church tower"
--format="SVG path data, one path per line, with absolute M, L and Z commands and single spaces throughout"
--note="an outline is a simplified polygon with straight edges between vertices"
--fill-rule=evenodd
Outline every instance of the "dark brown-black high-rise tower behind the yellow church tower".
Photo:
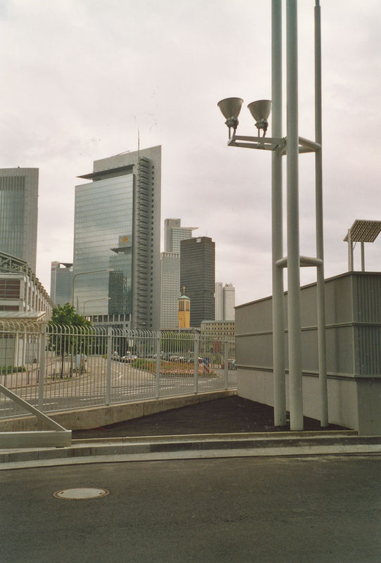
M 214 319 L 214 254 L 208 236 L 181 241 L 180 286 L 191 299 L 191 327 Z

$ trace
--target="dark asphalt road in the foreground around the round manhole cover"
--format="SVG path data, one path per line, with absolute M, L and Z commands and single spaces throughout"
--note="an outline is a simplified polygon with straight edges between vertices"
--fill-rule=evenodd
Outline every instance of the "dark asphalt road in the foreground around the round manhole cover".
M 381 456 L 0 473 L 2 563 L 380 563 Z M 107 488 L 60 500 L 64 488 Z

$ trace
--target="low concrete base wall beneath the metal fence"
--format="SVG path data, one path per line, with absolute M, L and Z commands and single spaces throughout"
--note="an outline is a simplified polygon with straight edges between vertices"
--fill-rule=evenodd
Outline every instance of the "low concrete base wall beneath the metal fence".
M 109 405 L 108 407 L 93 407 L 78 410 L 66 410 L 65 412 L 54 412 L 48 415 L 61 424 L 67 430 L 86 430 L 107 426 L 115 422 L 124 422 L 139 417 L 154 415 L 164 410 L 178 409 L 188 405 L 204 403 L 207 400 L 215 400 L 235 395 L 236 391 L 212 391 L 200 393 L 200 395 L 176 396 L 162 399 L 141 400 L 137 403 L 121 403 Z M 17 417 L 0 420 L 0 431 L 17 432 L 45 430 L 47 426 L 38 422 L 36 417 Z

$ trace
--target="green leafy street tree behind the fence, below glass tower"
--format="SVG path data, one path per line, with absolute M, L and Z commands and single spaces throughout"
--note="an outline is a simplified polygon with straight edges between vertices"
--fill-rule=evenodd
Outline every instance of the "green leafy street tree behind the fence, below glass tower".
M 49 321 L 50 327 L 67 326 L 67 327 L 91 327 L 92 323 L 82 315 L 78 315 L 75 308 L 70 303 L 65 305 L 57 305 L 51 312 L 51 320 Z M 61 334 L 52 346 L 57 354 L 62 356 L 60 377 L 63 377 L 63 364 L 65 353 L 73 353 L 76 348 L 77 352 L 85 352 L 85 342 L 79 339 L 74 334 L 66 335 Z

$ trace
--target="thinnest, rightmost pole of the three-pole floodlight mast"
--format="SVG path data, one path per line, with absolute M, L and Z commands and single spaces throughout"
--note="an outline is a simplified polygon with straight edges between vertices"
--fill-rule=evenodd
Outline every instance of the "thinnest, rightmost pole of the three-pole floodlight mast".
M 321 130 L 321 10 L 316 0 L 315 15 L 315 141 L 322 144 Z M 325 348 L 325 295 L 324 295 L 324 243 L 323 243 L 323 160 L 322 149 L 315 152 L 316 197 L 316 258 L 322 264 L 317 268 L 316 292 L 318 307 L 318 369 L 320 392 L 320 424 L 328 426 L 327 359 Z

